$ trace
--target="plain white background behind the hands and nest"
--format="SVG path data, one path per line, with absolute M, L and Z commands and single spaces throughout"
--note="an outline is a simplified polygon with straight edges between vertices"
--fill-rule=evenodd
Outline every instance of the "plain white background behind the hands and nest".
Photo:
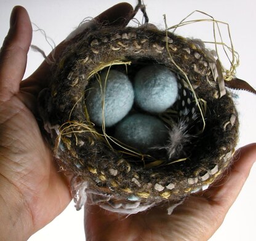
M 30 14 L 31 21 L 39 28 L 46 31 L 55 44 L 58 44 L 76 27 L 85 17 L 95 17 L 108 7 L 117 4 L 118 0 L 97 0 L 97 1 L 50 1 L 50 0 L 0 0 L 0 45 L 4 40 L 9 28 L 9 15 L 15 5 L 24 6 Z M 135 0 L 129 1 L 135 6 Z M 202 10 L 214 16 L 217 20 L 222 20 L 230 24 L 231 34 L 236 51 L 239 52 L 241 66 L 238 68 L 237 77 L 247 80 L 254 88 L 255 79 L 255 23 L 256 3 L 250 0 L 233 1 L 206 1 L 206 0 L 181 0 L 181 1 L 154 1 L 145 0 L 150 22 L 164 28 L 162 15 L 166 13 L 167 24 L 172 26 L 182 20 L 193 10 Z M 194 18 L 206 18 L 206 16 L 195 15 Z M 138 15 L 141 20 L 141 15 Z M 33 26 L 34 29 L 37 29 Z M 188 28 L 180 29 L 178 33 L 188 37 L 199 37 L 204 40 L 212 40 L 212 25 L 191 25 Z M 33 44 L 38 45 L 46 53 L 50 52 L 50 47 L 46 43 L 44 36 L 39 32 L 34 32 Z M 30 52 L 28 54 L 28 66 L 25 77 L 28 77 L 42 62 L 39 53 Z M 236 100 L 240 113 L 240 141 L 238 147 L 247 143 L 255 142 L 255 104 L 256 96 L 242 91 L 237 91 L 239 99 Z M 238 199 L 230 208 L 225 221 L 210 241 L 233 240 L 252 241 L 256 240 L 255 216 L 256 216 L 256 169 L 252 168 L 246 185 L 241 191 Z M 118 227 L 116 227 L 118 228 Z M 122 239 L 122 237 L 120 237 Z M 83 212 L 76 212 L 71 203 L 66 210 L 55 218 L 41 231 L 34 234 L 29 241 L 41 240 L 85 240 L 83 229 Z

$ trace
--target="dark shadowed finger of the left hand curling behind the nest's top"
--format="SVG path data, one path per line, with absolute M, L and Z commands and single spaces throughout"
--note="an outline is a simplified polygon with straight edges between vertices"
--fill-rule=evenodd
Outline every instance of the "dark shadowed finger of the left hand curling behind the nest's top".
M 106 10 L 105 12 L 100 13 L 100 15 L 94 18 L 94 21 L 97 21 L 98 24 L 104 24 L 106 26 L 124 25 L 124 23 L 126 23 L 126 19 L 130 17 L 133 10 L 134 9 L 130 4 L 127 2 L 121 2 Z M 60 53 L 68 44 L 70 44 L 70 41 L 62 41 L 55 48 L 55 59 L 58 58 L 58 55 L 60 55 Z M 51 53 L 49 58 L 51 58 Z M 22 87 L 28 85 L 39 85 L 39 89 L 41 90 L 42 88 L 46 88 L 49 85 L 50 80 L 49 69 L 50 65 L 44 61 L 41 66 L 39 66 L 39 68 L 28 78 L 28 80 L 22 82 Z

